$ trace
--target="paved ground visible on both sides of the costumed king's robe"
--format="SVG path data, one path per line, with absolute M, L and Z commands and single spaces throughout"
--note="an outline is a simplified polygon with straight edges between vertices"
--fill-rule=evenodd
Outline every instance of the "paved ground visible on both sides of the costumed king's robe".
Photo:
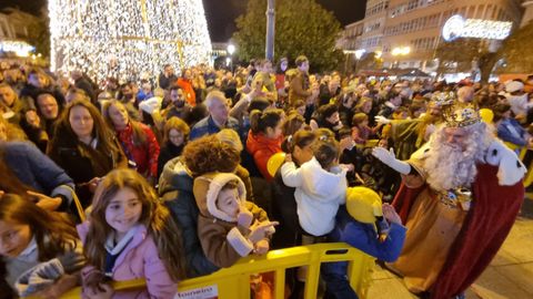
M 531 198 L 531 196 L 529 196 Z M 369 299 L 418 298 L 403 281 L 376 266 Z M 491 266 L 466 291 L 467 299 L 533 298 L 533 199 L 526 199 Z

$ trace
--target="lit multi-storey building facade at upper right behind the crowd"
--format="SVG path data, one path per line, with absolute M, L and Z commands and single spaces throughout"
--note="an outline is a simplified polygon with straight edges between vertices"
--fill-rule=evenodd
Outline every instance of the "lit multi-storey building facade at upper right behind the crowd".
M 450 17 L 511 21 L 517 28 L 521 4 L 522 0 L 368 0 L 363 33 L 346 44 L 378 52 L 385 68 L 426 71 L 435 65 L 435 50 L 444 42 L 441 32 Z

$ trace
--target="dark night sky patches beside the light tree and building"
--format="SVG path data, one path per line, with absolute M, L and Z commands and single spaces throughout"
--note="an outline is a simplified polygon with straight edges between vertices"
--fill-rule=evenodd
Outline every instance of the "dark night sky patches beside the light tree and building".
M 365 0 L 316 0 L 325 9 L 332 10 L 342 25 L 361 20 L 364 17 Z M 228 41 L 235 31 L 234 20 L 247 9 L 247 0 L 203 0 L 209 32 L 213 42 Z M 19 7 L 21 10 L 38 14 L 47 0 L 1 0 L 0 9 Z

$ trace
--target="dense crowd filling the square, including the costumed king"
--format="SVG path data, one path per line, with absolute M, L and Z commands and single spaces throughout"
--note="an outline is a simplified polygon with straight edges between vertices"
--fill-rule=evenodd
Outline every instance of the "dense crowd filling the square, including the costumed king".
M 0 64 L 0 297 L 81 285 L 84 298 L 172 298 L 241 257 L 344 241 L 422 298 L 461 298 L 524 198 L 533 75 L 446 83 L 310 64 L 169 64 L 99 83 Z M 346 264 L 321 271 L 324 298 L 358 298 Z M 144 290 L 109 283 L 140 278 Z M 288 271 L 288 296 L 304 280 Z M 272 277 L 251 288 L 271 298 Z

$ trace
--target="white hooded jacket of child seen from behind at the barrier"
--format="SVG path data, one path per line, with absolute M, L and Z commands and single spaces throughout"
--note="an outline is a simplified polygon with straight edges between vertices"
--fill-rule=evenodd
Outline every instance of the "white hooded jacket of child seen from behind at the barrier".
M 293 162 L 283 164 L 281 176 L 286 186 L 296 188 L 294 197 L 301 227 L 313 236 L 330 233 L 339 205 L 346 200 L 346 171 L 333 167 L 328 172 L 313 157 L 298 169 Z

